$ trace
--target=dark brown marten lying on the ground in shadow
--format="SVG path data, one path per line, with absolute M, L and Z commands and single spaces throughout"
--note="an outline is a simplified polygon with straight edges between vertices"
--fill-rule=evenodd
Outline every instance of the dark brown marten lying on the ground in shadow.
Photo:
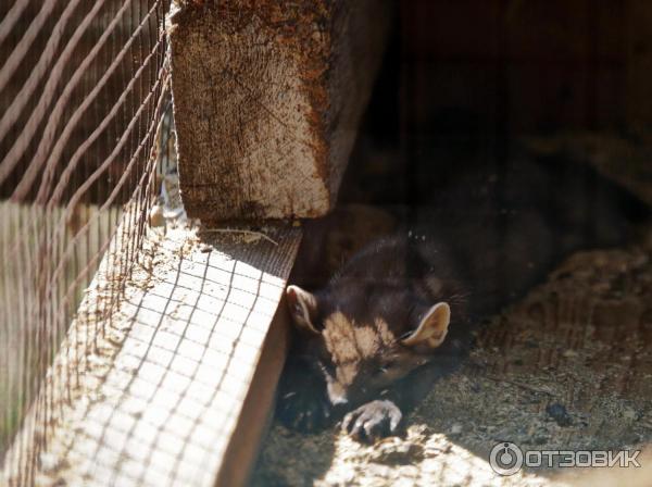
M 402 410 L 464 358 L 475 324 L 569 252 L 619 244 L 631 215 L 648 216 L 586 167 L 522 162 L 501 178 L 474 176 L 403 211 L 401 229 L 324 286 L 288 286 L 297 333 L 279 391 L 286 425 L 341 419 L 359 439 L 394 434 Z

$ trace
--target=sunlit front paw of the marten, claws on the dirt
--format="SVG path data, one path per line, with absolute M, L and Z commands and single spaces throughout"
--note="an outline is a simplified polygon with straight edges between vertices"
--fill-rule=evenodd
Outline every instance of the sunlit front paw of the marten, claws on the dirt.
M 372 401 L 348 413 L 342 429 L 359 441 L 375 441 L 394 435 L 402 417 L 393 402 Z

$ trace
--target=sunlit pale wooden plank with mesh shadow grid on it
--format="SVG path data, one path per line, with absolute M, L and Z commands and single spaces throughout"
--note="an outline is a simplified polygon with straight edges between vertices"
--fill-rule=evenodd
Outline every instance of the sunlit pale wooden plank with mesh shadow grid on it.
M 38 485 L 244 482 L 285 359 L 279 302 L 301 238 L 294 227 L 264 232 L 271 240 L 186 229 L 148 240 L 120 312 L 103 324 L 80 313 L 48 374 L 57 383 L 77 371 L 72 392 L 54 398 L 62 412 L 48 425 L 47 450 L 34 453 Z M 110 259 L 88 300 L 111 286 Z M 79 340 L 95 340 L 96 351 L 86 354 Z M 29 416 L 26 424 L 23 446 L 41 427 Z M 5 475 L 10 485 L 25 479 L 12 451 Z

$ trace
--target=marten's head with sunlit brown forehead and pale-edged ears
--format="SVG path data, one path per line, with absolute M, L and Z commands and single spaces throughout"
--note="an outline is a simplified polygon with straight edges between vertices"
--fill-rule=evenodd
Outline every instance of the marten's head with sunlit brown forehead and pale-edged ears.
M 287 288 L 301 353 L 310 357 L 333 405 L 353 405 L 428 362 L 450 323 L 448 303 L 422 302 L 402 289 L 313 295 Z

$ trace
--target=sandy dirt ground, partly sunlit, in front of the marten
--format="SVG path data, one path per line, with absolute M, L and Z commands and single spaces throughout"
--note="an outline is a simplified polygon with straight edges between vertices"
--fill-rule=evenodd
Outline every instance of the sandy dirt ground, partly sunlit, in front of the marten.
M 522 450 L 652 444 L 651 254 L 645 228 L 628 248 L 573 255 L 491 319 L 463 366 L 408 416 L 404 437 L 363 446 L 337 430 L 306 436 L 274 423 L 251 485 L 565 485 L 581 483 L 581 470 L 498 476 L 489 452 L 502 441 Z M 642 466 L 629 473 L 652 485 Z M 591 478 L 584 482 L 597 485 Z

